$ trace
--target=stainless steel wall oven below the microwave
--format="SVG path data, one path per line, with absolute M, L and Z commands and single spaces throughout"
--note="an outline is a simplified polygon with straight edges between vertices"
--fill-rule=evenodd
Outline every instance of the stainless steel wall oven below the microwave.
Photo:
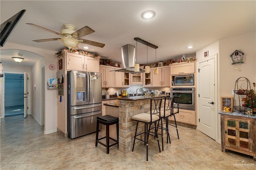
M 180 109 L 195 110 L 195 87 L 172 87 L 171 96 L 180 95 Z

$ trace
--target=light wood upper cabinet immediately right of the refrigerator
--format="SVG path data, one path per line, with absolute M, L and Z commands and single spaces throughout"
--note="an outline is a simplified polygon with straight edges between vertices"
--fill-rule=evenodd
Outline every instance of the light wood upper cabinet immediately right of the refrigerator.
M 114 68 L 110 66 L 100 65 L 101 73 L 101 86 L 103 87 L 115 87 L 115 72 Z

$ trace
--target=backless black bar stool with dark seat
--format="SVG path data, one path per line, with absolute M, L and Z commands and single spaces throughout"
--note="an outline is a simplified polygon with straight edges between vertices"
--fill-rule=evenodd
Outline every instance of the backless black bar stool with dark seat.
M 105 146 L 107 148 L 107 154 L 109 154 L 109 148 L 111 146 L 114 146 L 114 145 L 117 144 L 117 148 L 118 148 L 118 132 L 119 132 L 118 122 L 119 122 L 118 117 L 113 117 L 113 116 L 110 116 L 110 115 L 104 115 L 104 116 L 98 116 L 97 117 L 95 146 L 98 146 L 98 143 L 102 144 L 103 146 Z M 99 124 L 106 125 L 106 136 L 104 136 L 102 138 L 98 138 L 99 137 Z M 109 126 L 114 125 L 114 124 L 116 124 L 117 140 L 109 136 Z M 104 144 L 103 142 L 100 141 L 104 138 L 106 138 L 106 144 Z M 115 143 L 109 144 L 109 139 L 115 141 Z

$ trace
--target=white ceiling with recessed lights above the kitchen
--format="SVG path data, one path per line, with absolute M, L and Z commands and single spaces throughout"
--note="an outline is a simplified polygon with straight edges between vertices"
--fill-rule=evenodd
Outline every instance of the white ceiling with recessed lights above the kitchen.
M 94 33 L 82 37 L 106 44 L 103 48 L 89 46 L 85 51 L 108 56 L 121 62 L 121 46 L 136 46 L 135 37 L 158 46 L 148 47 L 148 63 L 166 61 L 182 54 L 192 55 L 199 49 L 224 38 L 254 32 L 256 29 L 256 1 L 10 1 L 0 0 L 1 24 L 25 9 L 26 12 L 8 42 L 58 51 L 60 41 L 32 42 L 32 40 L 60 38 L 56 34 L 28 26 L 33 23 L 60 32 L 63 24 L 73 24 L 78 30 L 89 26 Z M 143 20 L 145 10 L 156 16 Z M 186 46 L 193 45 L 188 49 Z M 84 44 L 78 47 L 82 49 Z M 146 45 L 137 43 L 138 63 L 147 62 Z M 1 50 L 1 61 L 18 51 Z M 26 51 L 23 57 L 26 63 Z M 232 51 L 230 51 L 232 52 Z M 156 56 L 155 56 L 156 54 Z M 28 54 L 29 55 L 29 54 Z M 32 54 L 33 58 L 34 54 Z M 39 57 L 39 56 L 38 56 Z M 14 63 L 12 61 L 12 63 Z

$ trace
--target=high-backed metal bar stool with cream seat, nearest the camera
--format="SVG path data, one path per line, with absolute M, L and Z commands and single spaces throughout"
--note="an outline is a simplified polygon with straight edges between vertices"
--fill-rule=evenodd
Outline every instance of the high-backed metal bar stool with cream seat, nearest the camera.
M 157 99 L 155 99 L 155 98 L 152 99 L 151 98 L 150 99 L 150 114 L 149 113 L 140 113 L 138 115 L 132 116 L 132 120 L 137 122 L 135 135 L 134 135 L 133 146 L 132 146 L 132 152 L 134 150 L 134 144 L 135 144 L 136 139 L 144 142 L 144 145 L 146 145 L 146 154 L 147 154 L 146 155 L 146 160 L 147 161 L 148 161 L 148 137 L 149 137 L 149 135 L 154 136 L 154 138 L 157 138 L 159 152 L 161 152 L 158 133 L 156 132 L 156 130 L 157 130 L 156 122 L 160 120 L 160 117 L 156 114 L 160 114 L 161 104 L 162 104 L 162 97 L 157 98 Z M 139 122 L 144 123 L 144 132 L 142 132 L 140 134 L 137 134 L 138 123 Z M 151 125 L 153 123 L 154 123 L 155 126 L 151 128 Z M 148 127 L 148 125 L 149 125 L 149 127 Z M 155 131 L 154 132 L 150 131 L 152 129 L 154 129 Z M 140 138 L 137 138 L 137 136 L 140 136 L 142 134 L 144 134 L 144 140 L 142 140 Z

